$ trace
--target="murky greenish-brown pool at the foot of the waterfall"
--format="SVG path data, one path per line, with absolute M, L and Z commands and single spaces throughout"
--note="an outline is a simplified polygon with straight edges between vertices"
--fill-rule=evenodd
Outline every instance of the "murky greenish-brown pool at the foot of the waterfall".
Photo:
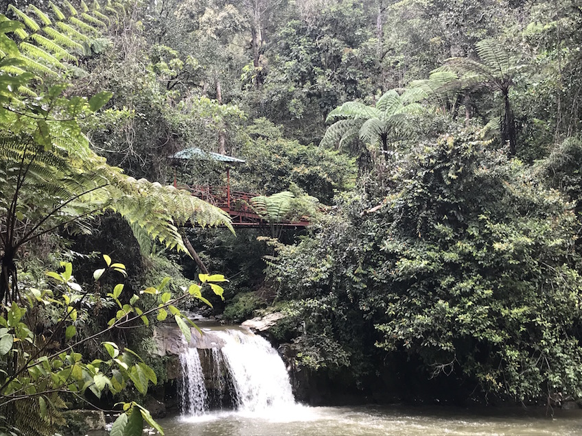
M 582 411 L 448 407 L 290 407 L 160 420 L 166 436 L 582 435 Z

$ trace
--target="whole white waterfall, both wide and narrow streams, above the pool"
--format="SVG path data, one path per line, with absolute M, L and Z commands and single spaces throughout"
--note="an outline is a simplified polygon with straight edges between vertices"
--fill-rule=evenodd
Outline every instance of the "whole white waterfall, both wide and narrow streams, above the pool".
M 200 415 L 209 410 L 209 402 L 213 408 L 226 402 L 237 411 L 253 413 L 295 404 L 285 364 L 266 339 L 235 329 L 209 330 L 205 335 L 216 345 L 200 350 L 205 374 L 196 348 L 181 356 L 183 385 L 188 387 L 182 394 L 183 415 Z

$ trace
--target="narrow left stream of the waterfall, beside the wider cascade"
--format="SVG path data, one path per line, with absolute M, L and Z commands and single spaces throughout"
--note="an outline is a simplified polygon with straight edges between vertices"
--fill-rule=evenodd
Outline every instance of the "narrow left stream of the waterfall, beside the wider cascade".
M 180 355 L 182 366 L 181 399 L 183 415 L 202 415 L 207 408 L 207 391 L 198 349 L 187 348 Z

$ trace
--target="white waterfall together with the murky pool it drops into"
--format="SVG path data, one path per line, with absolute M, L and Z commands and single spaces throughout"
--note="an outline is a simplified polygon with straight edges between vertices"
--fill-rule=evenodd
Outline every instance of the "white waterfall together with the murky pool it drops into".
M 180 361 L 182 416 L 159 420 L 166 436 L 582 435 L 581 409 L 303 406 L 281 356 L 247 330 L 205 328 Z

